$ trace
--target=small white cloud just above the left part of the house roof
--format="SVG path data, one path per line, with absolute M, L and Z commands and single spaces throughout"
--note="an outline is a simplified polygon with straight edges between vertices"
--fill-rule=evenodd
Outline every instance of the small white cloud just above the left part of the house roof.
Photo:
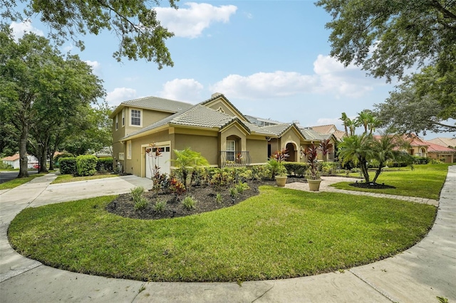
M 201 101 L 203 85 L 194 79 L 175 79 L 163 85 L 160 97 L 186 102 Z

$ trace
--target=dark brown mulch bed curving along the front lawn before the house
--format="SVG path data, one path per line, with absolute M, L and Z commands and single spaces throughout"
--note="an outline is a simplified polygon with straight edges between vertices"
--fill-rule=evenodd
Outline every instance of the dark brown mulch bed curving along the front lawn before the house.
M 151 181 L 152 182 L 152 181 Z M 292 182 L 305 182 L 302 178 L 289 177 L 286 183 Z M 187 209 L 182 205 L 181 201 L 177 201 L 174 193 L 162 193 L 159 191 L 147 191 L 144 196 L 149 201 L 147 207 L 143 210 L 135 210 L 133 199 L 130 193 L 124 193 L 115 198 L 114 201 L 106 206 L 106 210 L 110 213 L 114 213 L 118 216 L 125 218 L 145 219 L 145 220 L 157 220 L 163 218 L 177 218 L 182 216 L 190 216 L 196 213 L 205 213 L 207 211 L 214 211 L 219 208 L 226 208 L 234 206 L 239 202 L 246 200 L 251 196 L 257 196 L 259 194 L 259 186 L 271 185 L 275 186 L 275 181 L 249 181 L 247 182 L 250 189 L 245 190 L 243 193 L 237 193 L 235 198 L 232 198 L 229 194 L 229 188 L 222 188 L 219 193 L 222 195 L 222 201 L 217 203 L 215 201 L 216 193 L 214 188 L 211 186 L 192 186 L 190 191 L 187 191 L 182 195 L 181 200 L 185 196 L 190 195 L 197 200 L 194 209 Z M 154 210 L 156 201 L 166 201 L 164 211 L 158 213 Z

